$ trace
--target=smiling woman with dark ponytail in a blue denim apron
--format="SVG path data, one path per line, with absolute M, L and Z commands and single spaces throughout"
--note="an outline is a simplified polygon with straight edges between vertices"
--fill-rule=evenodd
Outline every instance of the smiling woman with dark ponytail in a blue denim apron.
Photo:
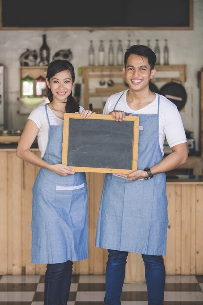
M 47 69 L 50 104 L 28 117 L 17 156 L 41 169 L 33 186 L 32 263 L 47 264 L 44 305 L 66 305 L 73 261 L 88 257 L 87 185 L 84 172 L 61 164 L 65 112 L 93 115 L 72 97 L 74 67 L 54 60 Z M 30 151 L 37 136 L 41 158 Z

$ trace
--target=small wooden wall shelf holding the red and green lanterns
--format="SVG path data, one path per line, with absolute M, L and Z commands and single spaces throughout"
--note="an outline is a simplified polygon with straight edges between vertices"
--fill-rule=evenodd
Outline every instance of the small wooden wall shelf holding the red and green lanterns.
M 29 114 L 32 109 L 36 108 L 38 105 L 44 102 L 45 97 L 22 97 L 21 96 L 21 80 L 26 76 L 30 76 L 33 79 L 42 76 L 46 78 L 46 70 L 47 67 L 39 67 L 39 66 L 27 66 L 20 67 L 20 98 L 19 98 L 19 114 Z

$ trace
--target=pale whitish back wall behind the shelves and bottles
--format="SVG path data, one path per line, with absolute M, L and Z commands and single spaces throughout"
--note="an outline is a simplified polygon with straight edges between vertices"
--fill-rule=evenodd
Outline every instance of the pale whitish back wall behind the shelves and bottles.
M 121 17 L 122 18 L 122 17 Z M 171 16 L 172 18 L 172 16 Z M 47 34 L 47 44 L 51 49 L 51 59 L 60 49 L 71 49 L 75 68 L 76 82 L 78 80 L 78 67 L 88 65 L 89 41 L 93 40 L 95 51 L 98 50 L 99 40 L 104 40 L 107 50 L 109 39 L 117 46 L 121 39 L 123 47 L 127 47 L 127 40 L 136 44 L 140 39 L 141 44 L 151 40 L 154 48 L 155 39 L 160 40 L 163 50 L 164 39 L 168 39 L 169 63 L 186 64 L 187 80 L 185 89 L 188 94 L 187 103 L 181 116 L 185 129 L 193 131 L 196 146 L 199 142 L 199 89 L 197 88 L 197 71 L 203 67 L 203 0 L 194 0 L 194 29 L 192 31 L 0 31 L 0 63 L 7 70 L 6 92 L 8 101 L 9 129 L 23 129 L 27 115 L 17 114 L 19 110 L 19 57 L 27 49 L 37 52 L 42 44 L 42 34 Z M 96 61 L 97 62 L 97 61 Z M 161 53 L 161 64 L 163 53 Z M 81 102 L 82 104 L 82 102 Z

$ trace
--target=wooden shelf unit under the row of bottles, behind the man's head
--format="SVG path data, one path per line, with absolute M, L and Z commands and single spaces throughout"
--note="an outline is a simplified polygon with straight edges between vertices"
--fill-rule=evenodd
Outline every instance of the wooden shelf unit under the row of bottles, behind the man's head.
M 166 83 L 176 79 L 184 85 L 186 80 L 186 65 L 160 65 L 155 68 L 157 72 L 152 80 L 154 83 Z M 89 104 L 92 103 L 93 108 L 97 109 L 98 113 L 101 113 L 104 106 L 103 103 L 108 96 L 128 89 L 128 86 L 125 84 L 122 66 L 84 66 L 82 71 L 85 109 L 88 109 Z M 104 86 L 99 84 L 101 79 L 105 80 Z M 107 84 L 110 79 L 114 81 L 113 86 L 108 86 Z

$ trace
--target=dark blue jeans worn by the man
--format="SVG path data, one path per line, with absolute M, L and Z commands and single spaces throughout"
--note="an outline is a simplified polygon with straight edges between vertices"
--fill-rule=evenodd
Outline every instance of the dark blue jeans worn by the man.
M 121 305 L 128 252 L 108 250 L 106 267 L 106 294 L 104 304 Z M 162 305 L 164 302 L 165 267 L 162 256 L 144 255 L 145 279 L 148 290 L 148 305 Z

